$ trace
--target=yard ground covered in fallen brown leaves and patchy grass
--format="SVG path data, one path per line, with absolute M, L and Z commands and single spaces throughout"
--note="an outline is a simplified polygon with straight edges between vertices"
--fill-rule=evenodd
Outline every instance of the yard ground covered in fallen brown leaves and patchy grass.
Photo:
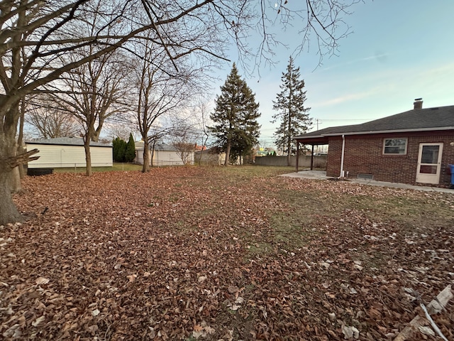
M 393 340 L 454 284 L 454 195 L 285 172 L 26 178 L 31 220 L 0 227 L 0 338 Z M 453 300 L 433 318 L 454 340 Z

